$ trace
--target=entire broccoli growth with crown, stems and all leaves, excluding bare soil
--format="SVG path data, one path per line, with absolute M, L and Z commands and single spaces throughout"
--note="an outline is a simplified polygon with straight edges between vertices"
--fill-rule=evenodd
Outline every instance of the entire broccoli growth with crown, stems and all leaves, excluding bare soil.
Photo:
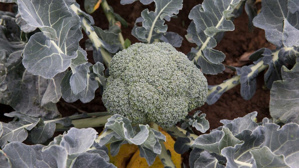
M 183 0 L 135 1 L 120 3 L 155 8 L 132 24 L 140 43 L 131 45 L 122 34 L 129 24 L 107 0 L 85 0 L 86 12 L 75 0 L 0 0 L 15 4 L 15 13 L 0 11 L 0 103 L 15 110 L 4 114 L 10 122 L 0 122 L 0 167 L 180 168 L 186 152 L 190 168 L 298 167 L 299 0 L 262 0 L 261 10 L 254 0 L 204 0 L 189 14 L 185 38 L 196 47 L 186 55 L 174 48 L 184 38 L 167 31 Z M 249 57 L 253 64 L 232 67 L 214 47 L 243 8 L 248 27 L 264 29 L 276 49 L 261 48 Z M 96 10 L 107 30 L 94 25 L 89 14 Z M 209 86 L 204 74 L 225 68 L 235 76 Z M 242 98 L 251 99 L 262 72 L 271 118 L 257 121 L 251 112 L 208 131 L 209 114 L 195 109 L 239 84 Z M 56 106 L 96 95 L 107 111 L 62 117 Z

